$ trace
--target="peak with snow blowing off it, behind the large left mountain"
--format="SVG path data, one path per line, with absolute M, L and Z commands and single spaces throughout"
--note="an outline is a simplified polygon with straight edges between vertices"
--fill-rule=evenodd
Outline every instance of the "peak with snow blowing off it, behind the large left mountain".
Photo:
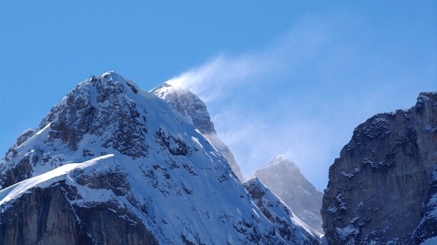
M 180 116 L 192 122 L 192 124 L 198 128 L 198 131 L 200 131 L 205 138 L 208 138 L 228 160 L 230 168 L 232 168 L 232 171 L 239 180 L 244 180 L 234 155 L 228 146 L 217 136 L 216 128 L 214 128 L 214 123 L 211 121 L 207 106 L 197 95 L 182 87 L 173 87 L 168 83 L 164 83 L 152 89 L 150 92 L 164 99 Z

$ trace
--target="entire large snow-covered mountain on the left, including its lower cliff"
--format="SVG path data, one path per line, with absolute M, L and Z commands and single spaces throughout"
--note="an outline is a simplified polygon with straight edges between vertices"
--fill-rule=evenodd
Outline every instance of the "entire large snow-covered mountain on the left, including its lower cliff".
M 315 238 L 296 227 L 279 232 L 187 118 L 115 72 L 77 85 L 17 138 L 0 185 L 0 244 Z

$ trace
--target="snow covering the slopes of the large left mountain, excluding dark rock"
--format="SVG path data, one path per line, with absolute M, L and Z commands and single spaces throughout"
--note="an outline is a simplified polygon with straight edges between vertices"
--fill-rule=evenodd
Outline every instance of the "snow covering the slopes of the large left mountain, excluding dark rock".
M 260 237 L 271 236 L 269 219 L 260 212 L 239 180 L 234 179 L 229 164 L 219 150 L 188 120 L 176 114 L 165 101 L 137 88 L 129 80 L 129 85 L 138 90 L 134 92 L 127 86 L 127 80 L 115 72 L 97 78 L 102 79 L 100 86 L 107 89 L 124 87 L 122 102 L 126 104 L 120 102 L 117 109 L 128 112 L 134 107 L 139 114 L 137 120 L 146 118 L 143 123 L 147 132 L 142 132 L 146 137 L 141 144 L 147 146 L 147 156 L 130 158 L 117 151 L 113 144 L 102 147 L 103 141 L 117 132 L 114 125 L 105 125 L 102 135 L 86 133 L 77 143 L 76 150 L 66 146 L 61 139 L 47 141 L 52 128 L 51 121 L 46 117 L 46 126 L 16 149 L 15 159 L 0 164 L 0 170 L 5 172 L 7 168 L 14 168 L 15 161 L 29 154 L 38 157 L 36 162 L 31 163 L 32 178 L 0 191 L 2 209 L 7 209 L 14 199 L 34 188 L 47 188 L 66 180 L 66 185 L 75 186 L 80 196 L 70 200 L 72 204 L 117 203 L 120 209 L 126 209 L 140 219 L 161 244 L 178 244 L 182 234 L 194 243 L 206 244 L 221 244 L 226 240 L 233 244 L 249 243 L 248 233 L 256 232 Z M 117 113 L 114 105 L 97 101 L 97 88 L 91 79 L 81 83 L 76 92 L 90 100 L 96 109 L 95 115 Z M 58 106 L 62 109 L 66 107 L 66 102 L 67 99 L 62 100 Z M 98 114 L 99 111 L 102 114 Z M 58 117 L 56 114 L 50 120 L 58 120 Z M 168 137 L 185 142 L 188 154 L 171 154 L 164 144 L 158 142 L 158 128 L 165 128 Z M 171 148 L 179 147 L 177 141 L 170 143 Z M 84 154 L 85 150 L 94 155 Z M 80 176 L 105 176 L 107 173 L 125 177 L 127 183 L 122 184 L 127 186 L 125 190 L 129 199 L 135 201 L 128 200 L 127 195 L 117 196 L 112 189 L 95 189 L 76 182 Z M 143 207 L 146 207 L 147 213 Z M 317 234 L 300 219 L 294 217 L 292 220 L 301 230 Z M 251 227 L 247 227 L 247 223 Z M 243 234 L 236 228 L 244 229 L 247 233 Z M 282 241 L 278 236 L 273 236 L 270 240 L 259 241 L 259 244 Z

